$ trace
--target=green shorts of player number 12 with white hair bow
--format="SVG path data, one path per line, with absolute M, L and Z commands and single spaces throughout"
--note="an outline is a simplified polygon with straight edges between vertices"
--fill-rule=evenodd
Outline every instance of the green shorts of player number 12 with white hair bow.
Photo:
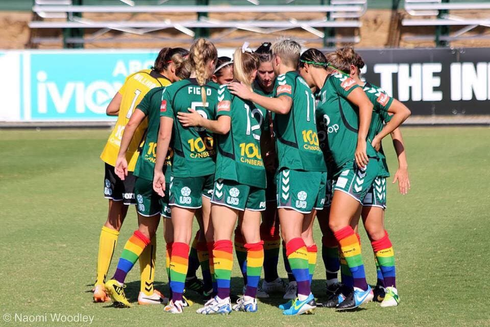
M 218 179 L 214 183 L 211 203 L 239 211 L 264 211 L 265 190 L 240 184 L 234 180 Z

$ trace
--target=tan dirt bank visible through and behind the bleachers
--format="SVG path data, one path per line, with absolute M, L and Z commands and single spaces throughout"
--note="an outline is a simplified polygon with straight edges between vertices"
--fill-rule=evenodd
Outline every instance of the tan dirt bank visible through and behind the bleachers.
M 357 48 L 369 49 L 369 48 L 384 48 L 388 42 L 388 35 L 390 30 L 391 10 L 387 9 L 371 9 L 362 16 L 362 27 L 360 30 L 354 29 L 339 29 L 338 35 L 353 36 L 359 35 L 360 42 L 356 44 Z M 481 12 L 463 12 L 459 13 L 463 17 L 484 17 L 485 13 Z M 222 18 L 223 14 L 211 14 L 210 19 Z M 324 16 L 321 13 L 308 13 L 308 14 L 226 14 L 226 19 L 236 20 L 248 20 L 251 18 L 261 20 L 272 19 L 289 19 L 294 18 L 298 20 L 314 20 L 322 19 Z M 404 13 L 406 15 L 406 13 Z M 486 14 L 487 15 L 487 14 Z M 193 18 L 194 15 L 179 14 L 177 20 L 183 20 Z M 168 15 L 165 14 L 86 14 L 85 19 L 89 20 L 148 20 L 159 21 L 168 19 Z M 63 46 L 62 36 L 60 30 L 48 30 L 48 31 L 31 31 L 28 27 L 28 22 L 32 19 L 32 13 L 29 12 L 0 12 L 0 49 L 24 49 L 29 43 L 30 33 L 37 37 L 51 37 L 53 40 L 50 43 L 39 44 L 39 49 L 60 49 Z M 452 28 L 451 32 L 456 31 L 458 28 Z M 85 38 L 91 38 L 96 30 L 86 29 Z M 360 33 L 360 34 L 359 34 Z M 434 46 L 433 41 L 408 41 L 404 40 L 406 36 L 413 35 L 433 35 L 434 28 L 401 28 L 401 39 L 399 46 L 404 48 L 420 48 L 424 46 Z M 490 35 L 490 29 L 477 28 L 465 35 L 477 35 L 487 34 Z M 287 31 L 280 31 L 269 34 L 257 34 L 244 30 L 211 30 L 210 37 L 216 41 L 216 44 L 220 47 L 235 47 L 241 45 L 245 40 L 249 41 L 252 46 L 259 45 L 260 42 L 274 40 L 280 36 L 289 36 L 304 40 L 304 45 L 307 47 L 323 46 L 322 39 L 317 36 L 306 32 L 302 29 L 292 29 Z M 239 41 L 230 42 L 227 39 L 239 38 Z M 101 39 L 107 39 L 101 42 Z M 104 49 L 104 48 L 160 48 L 164 45 L 169 46 L 188 46 L 192 39 L 175 30 L 163 30 L 152 32 L 145 36 L 139 36 L 134 34 L 122 33 L 117 31 L 108 31 L 98 37 L 94 38 L 93 42 L 85 45 L 86 49 Z M 340 44 L 337 44 L 340 45 Z M 451 46 L 455 47 L 476 47 L 476 46 L 490 46 L 490 40 L 465 40 L 458 42 L 451 42 Z

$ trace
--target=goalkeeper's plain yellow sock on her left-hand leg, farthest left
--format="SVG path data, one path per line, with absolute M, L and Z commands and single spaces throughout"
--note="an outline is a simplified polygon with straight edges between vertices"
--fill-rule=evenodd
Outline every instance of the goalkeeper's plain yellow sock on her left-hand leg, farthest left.
M 99 239 L 99 255 L 97 256 L 97 279 L 95 285 L 104 285 L 107 271 L 111 265 L 112 255 L 116 248 L 119 232 L 106 226 L 102 226 Z

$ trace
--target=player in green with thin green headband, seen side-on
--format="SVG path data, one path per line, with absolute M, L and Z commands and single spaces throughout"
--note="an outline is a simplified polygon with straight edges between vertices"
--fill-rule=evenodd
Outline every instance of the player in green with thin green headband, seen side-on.
M 327 65 L 322 52 L 309 49 L 301 55 L 299 71 L 320 95 L 316 120 L 321 122 L 318 129 L 327 134 L 324 151 L 330 176 L 335 180 L 329 227 L 353 277 L 354 292 L 337 306 L 337 310 L 346 310 L 373 298 L 366 283 L 359 241 L 350 222 L 378 174 L 378 157 L 366 142 L 373 105 L 353 79 L 329 73 Z

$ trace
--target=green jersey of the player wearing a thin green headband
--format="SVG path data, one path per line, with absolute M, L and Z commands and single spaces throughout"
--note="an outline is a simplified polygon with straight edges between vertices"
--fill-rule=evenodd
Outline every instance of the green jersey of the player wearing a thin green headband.
M 341 73 L 330 74 L 318 92 L 320 101 L 316 110 L 318 129 L 326 135 L 324 151 L 331 157 L 333 176 L 350 160 L 354 160 L 359 128 L 359 109 L 347 100 L 349 94 L 359 87 L 356 81 Z M 322 133 L 321 133 L 322 135 Z M 371 143 L 366 142 L 367 156 L 378 158 Z M 329 165 L 330 167 L 330 165 Z

